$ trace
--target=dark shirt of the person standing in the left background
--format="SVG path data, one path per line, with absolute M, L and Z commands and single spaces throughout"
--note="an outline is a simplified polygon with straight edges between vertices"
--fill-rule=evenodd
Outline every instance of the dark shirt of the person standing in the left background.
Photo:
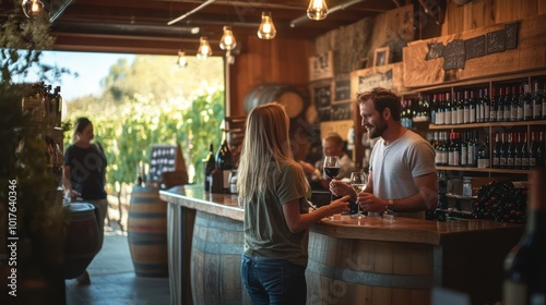
M 83 199 L 104 199 L 106 157 L 99 144 L 87 148 L 71 145 L 64 152 L 64 166 L 70 167 L 72 188 L 82 194 Z

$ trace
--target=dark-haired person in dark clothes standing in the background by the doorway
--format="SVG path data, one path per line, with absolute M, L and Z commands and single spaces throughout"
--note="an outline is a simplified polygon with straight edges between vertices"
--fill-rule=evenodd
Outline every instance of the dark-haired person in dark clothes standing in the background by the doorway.
M 71 199 L 84 200 L 95 206 L 98 224 L 98 245 L 103 246 L 104 221 L 108 209 L 105 191 L 106 157 L 95 137 L 93 124 L 87 118 L 80 118 L 74 124 L 72 145 L 64 151 L 62 180 Z M 78 278 L 80 284 L 90 284 L 90 274 L 84 271 Z

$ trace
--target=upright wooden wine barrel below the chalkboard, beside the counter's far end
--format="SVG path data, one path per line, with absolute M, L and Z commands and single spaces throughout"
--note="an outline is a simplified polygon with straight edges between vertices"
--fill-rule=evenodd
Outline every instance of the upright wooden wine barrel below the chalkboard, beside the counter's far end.
M 133 187 L 127 237 L 138 277 L 168 277 L 167 203 L 159 198 L 159 188 Z

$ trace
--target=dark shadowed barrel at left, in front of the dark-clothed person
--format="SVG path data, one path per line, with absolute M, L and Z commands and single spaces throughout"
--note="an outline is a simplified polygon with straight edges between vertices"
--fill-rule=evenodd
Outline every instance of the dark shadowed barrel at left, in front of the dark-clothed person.
M 69 222 L 64 242 L 64 279 L 83 273 L 100 248 L 95 206 L 71 203 L 64 206 Z

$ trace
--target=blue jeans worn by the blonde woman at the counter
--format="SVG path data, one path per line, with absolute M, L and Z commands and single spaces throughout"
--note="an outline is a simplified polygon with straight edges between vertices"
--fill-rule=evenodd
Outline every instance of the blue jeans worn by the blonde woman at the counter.
M 284 259 L 241 256 L 241 279 L 253 305 L 306 304 L 306 268 Z

